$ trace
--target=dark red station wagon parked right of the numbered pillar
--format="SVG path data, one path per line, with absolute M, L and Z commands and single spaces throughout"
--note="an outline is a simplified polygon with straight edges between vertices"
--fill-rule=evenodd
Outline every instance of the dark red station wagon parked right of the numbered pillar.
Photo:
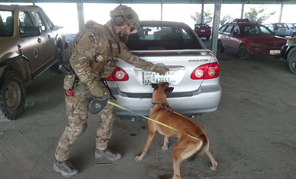
M 281 47 L 286 43 L 286 38 L 276 36 L 263 25 L 237 22 L 219 29 L 218 51 L 223 52 L 225 48 L 235 50 L 240 59 L 248 59 L 253 54 L 273 55 L 279 59 Z

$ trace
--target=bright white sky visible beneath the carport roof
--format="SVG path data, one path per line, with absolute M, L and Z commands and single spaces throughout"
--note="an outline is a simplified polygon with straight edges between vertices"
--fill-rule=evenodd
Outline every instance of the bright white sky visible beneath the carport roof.
M 18 4 L 18 5 L 32 5 L 31 3 L 0 3 L 5 5 Z M 44 9 L 46 14 L 55 25 L 63 25 L 68 33 L 78 32 L 78 17 L 76 3 L 36 3 Z M 84 20 L 87 22 L 92 19 L 100 24 L 106 23 L 110 20 L 110 10 L 114 9 L 119 4 L 99 4 L 99 3 L 83 3 Z M 130 6 L 137 12 L 140 20 L 160 20 L 160 4 L 123 4 Z M 144 7 L 144 8 L 143 8 Z M 260 9 L 266 8 L 264 13 L 276 11 L 276 14 L 271 16 L 263 23 L 271 23 L 279 21 L 280 4 L 245 4 L 244 12 L 248 12 L 251 7 Z M 230 14 L 233 18 L 240 18 L 241 4 L 222 4 L 221 19 L 224 15 Z M 52 10 L 54 9 L 54 10 Z M 296 5 L 284 5 L 281 22 L 296 21 L 294 12 Z M 205 4 L 204 10 L 210 10 L 214 13 L 214 4 Z M 58 12 L 58 13 L 57 13 Z M 201 12 L 201 4 L 163 4 L 163 20 L 184 22 L 190 27 L 194 27 L 194 21 L 190 15 L 195 12 Z M 293 13 L 294 14 L 294 13 Z

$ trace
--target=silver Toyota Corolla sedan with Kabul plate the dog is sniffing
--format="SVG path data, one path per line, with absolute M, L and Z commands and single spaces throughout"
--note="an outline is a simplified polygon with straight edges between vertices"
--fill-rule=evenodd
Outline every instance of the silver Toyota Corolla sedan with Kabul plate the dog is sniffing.
M 186 115 L 217 110 L 221 98 L 219 65 L 196 33 L 186 24 L 166 21 L 141 21 L 141 27 L 129 36 L 132 53 L 158 66 L 170 69 L 165 76 L 140 68 L 118 58 L 118 67 L 107 78 L 117 98 L 114 102 L 141 115 L 149 115 L 152 83 L 168 82 L 174 87 L 167 98 L 170 107 Z M 157 101 L 153 101 L 157 102 Z M 133 113 L 116 108 L 121 117 Z

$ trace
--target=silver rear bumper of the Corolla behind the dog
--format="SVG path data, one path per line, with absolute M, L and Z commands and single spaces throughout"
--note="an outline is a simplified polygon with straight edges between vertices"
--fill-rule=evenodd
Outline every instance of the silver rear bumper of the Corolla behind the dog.
M 135 93 L 125 93 L 121 92 L 118 88 L 111 88 L 112 94 L 117 98 L 113 100 L 114 103 L 121 105 L 133 112 L 141 115 L 149 115 L 151 108 L 152 98 L 141 98 L 140 95 L 137 96 Z M 168 98 L 170 107 L 182 114 L 204 114 L 210 113 L 217 110 L 217 106 L 221 99 L 222 90 L 220 85 L 214 86 L 201 86 L 198 90 L 192 92 L 185 92 L 184 94 L 192 93 L 192 95 L 187 97 L 175 97 Z M 133 94 L 133 95 L 130 95 Z M 150 93 L 151 94 L 151 93 Z M 150 95 L 149 94 L 149 95 Z M 180 93 L 181 94 L 181 93 Z M 152 95 L 152 94 L 151 94 Z M 128 97 L 133 96 L 133 97 Z M 136 97 L 137 96 L 137 97 Z M 186 95 L 183 95 L 186 96 Z M 147 97 L 143 95 L 143 97 Z M 135 114 L 130 113 L 126 110 L 115 107 L 117 115 L 121 116 L 134 116 Z

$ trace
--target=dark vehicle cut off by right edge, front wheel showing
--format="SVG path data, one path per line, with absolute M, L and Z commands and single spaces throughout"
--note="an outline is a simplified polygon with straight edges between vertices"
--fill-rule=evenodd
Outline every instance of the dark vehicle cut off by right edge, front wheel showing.
M 289 38 L 281 48 L 281 57 L 289 61 L 289 68 L 296 75 L 296 37 Z

